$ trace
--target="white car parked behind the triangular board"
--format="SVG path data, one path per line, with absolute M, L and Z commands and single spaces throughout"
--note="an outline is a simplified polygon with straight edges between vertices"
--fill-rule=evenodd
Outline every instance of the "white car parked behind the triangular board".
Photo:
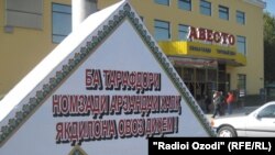
M 275 101 L 270 101 L 250 113 L 220 117 L 211 120 L 218 137 L 275 136 Z

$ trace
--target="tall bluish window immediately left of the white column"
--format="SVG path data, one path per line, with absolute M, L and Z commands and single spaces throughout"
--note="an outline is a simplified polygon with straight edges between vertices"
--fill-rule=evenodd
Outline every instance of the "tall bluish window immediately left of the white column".
M 72 7 L 52 4 L 53 43 L 61 43 L 72 32 Z

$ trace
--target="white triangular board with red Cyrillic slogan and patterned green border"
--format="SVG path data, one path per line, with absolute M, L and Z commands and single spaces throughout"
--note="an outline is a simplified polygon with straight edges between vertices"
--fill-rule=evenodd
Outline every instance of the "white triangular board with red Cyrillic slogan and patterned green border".
M 151 136 L 215 136 L 204 115 L 121 1 L 90 15 L 1 100 L 0 154 L 145 155 Z

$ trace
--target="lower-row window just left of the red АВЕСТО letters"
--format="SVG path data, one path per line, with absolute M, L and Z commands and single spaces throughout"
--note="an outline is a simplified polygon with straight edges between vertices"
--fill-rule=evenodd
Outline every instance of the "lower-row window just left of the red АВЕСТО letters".
M 169 22 L 155 20 L 155 40 L 167 41 L 169 38 Z

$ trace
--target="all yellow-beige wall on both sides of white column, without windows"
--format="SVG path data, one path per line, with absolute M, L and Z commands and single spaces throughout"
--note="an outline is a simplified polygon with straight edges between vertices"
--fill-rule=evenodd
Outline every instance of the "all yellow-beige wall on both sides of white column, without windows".
M 98 8 L 118 2 L 119 0 L 98 0 Z M 231 88 L 237 88 L 238 74 L 246 75 L 249 93 L 258 93 L 263 87 L 263 11 L 243 0 L 209 0 L 212 3 L 212 16 L 199 13 L 199 0 L 193 0 L 193 11 L 177 8 L 177 1 L 170 0 L 170 7 L 155 4 L 154 0 L 129 0 L 136 12 L 144 18 L 148 31 L 154 32 L 154 20 L 170 22 L 172 40 L 177 40 L 178 24 L 206 27 L 246 37 L 248 65 L 228 67 L 231 74 Z M 0 0 L 0 96 L 15 86 L 56 44 L 52 43 L 52 2 L 70 4 L 70 0 L 43 0 L 43 25 L 41 30 L 13 27 L 11 33 L 4 32 L 6 0 Z M 218 4 L 229 7 L 230 20 L 218 18 Z M 235 23 L 235 10 L 245 12 L 246 24 Z

